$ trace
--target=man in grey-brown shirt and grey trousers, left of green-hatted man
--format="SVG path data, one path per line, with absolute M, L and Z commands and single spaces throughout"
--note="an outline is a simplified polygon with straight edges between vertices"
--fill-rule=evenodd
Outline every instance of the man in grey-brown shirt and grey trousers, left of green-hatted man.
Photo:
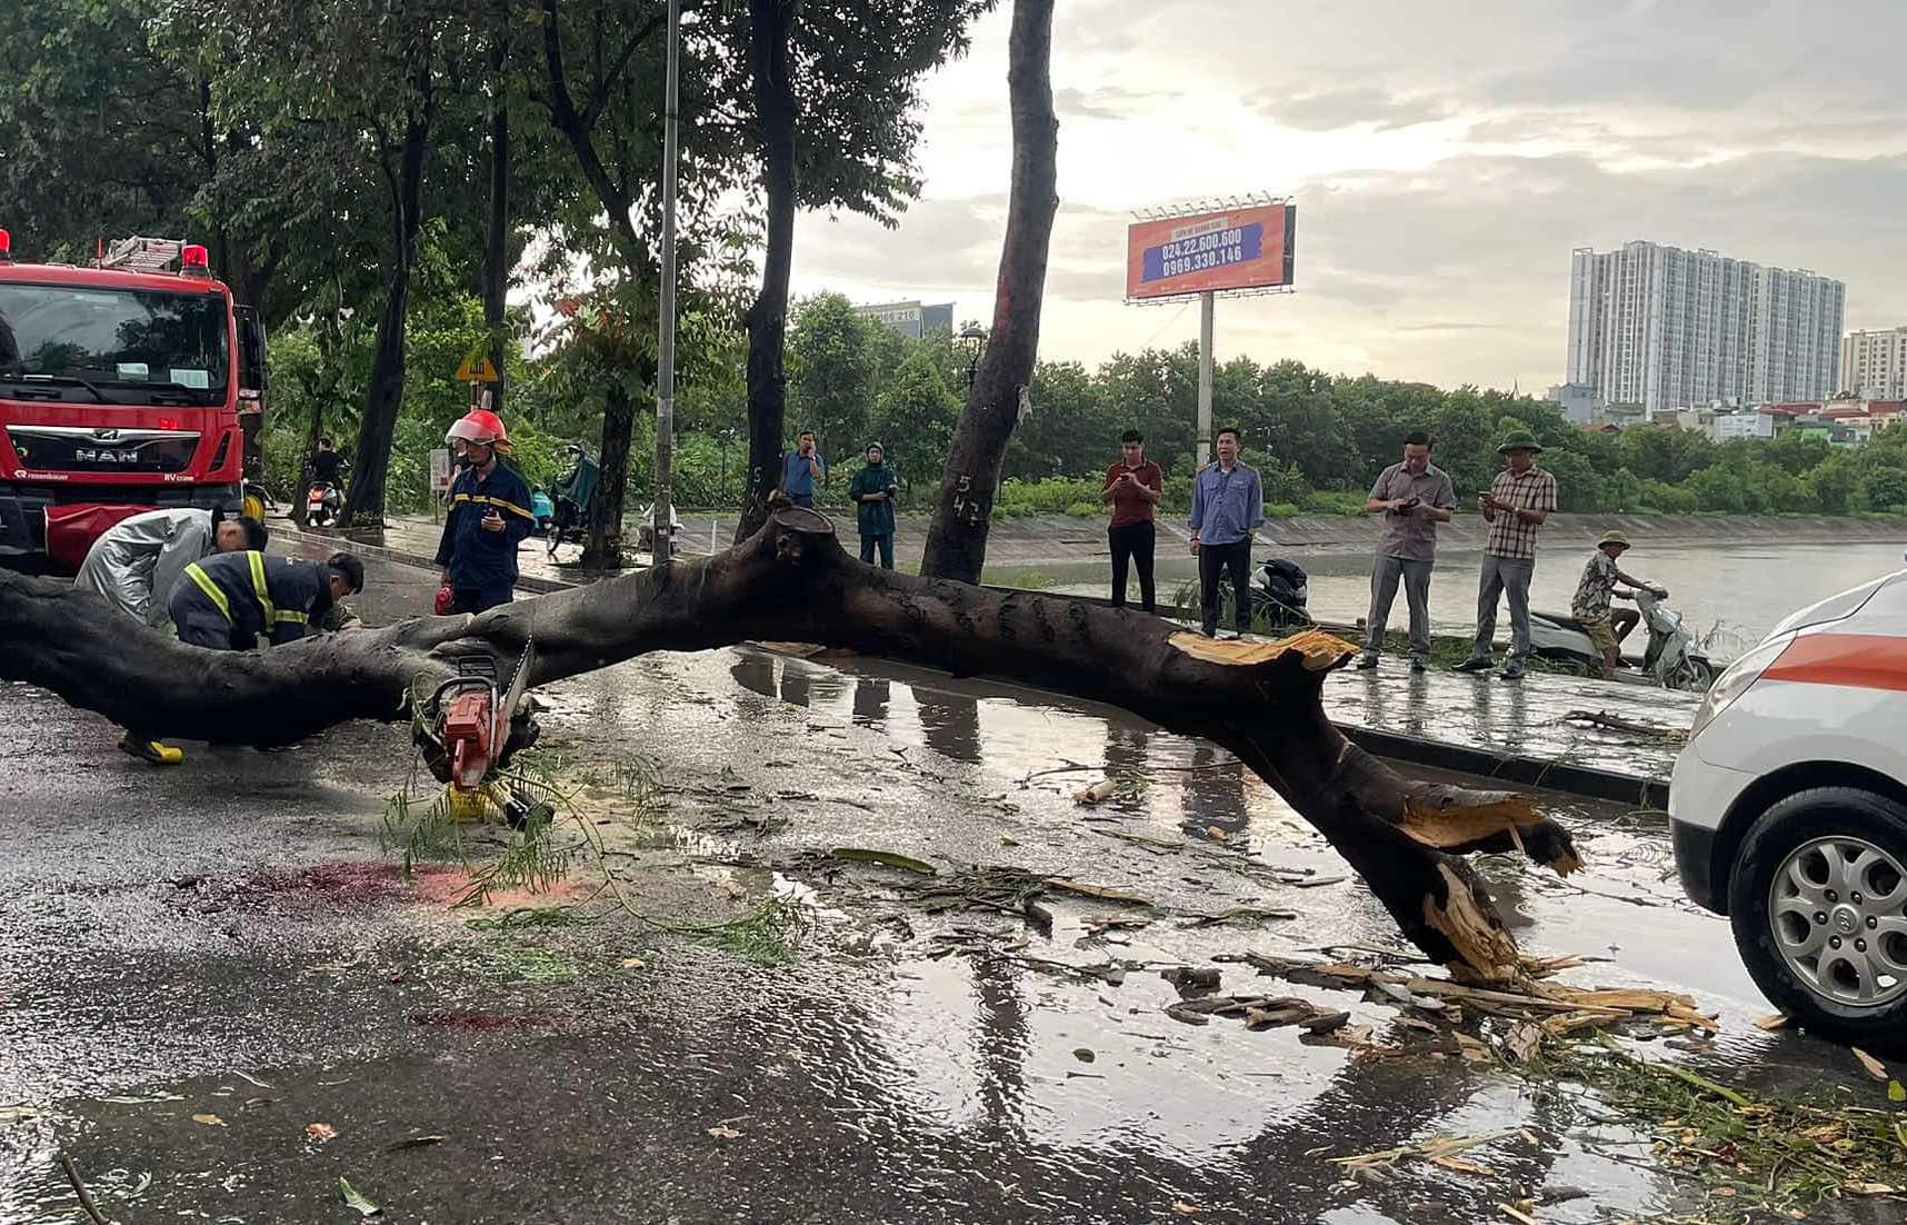
M 1430 666 L 1430 569 L 1436 565 L 1436 525 L 1449 523 L 1457 488 L 1442 467 L 1430 464 L 1430 435 L 1404 437 L 1404 460 L 1379 473 L 1364 513 L 1384 517 L 1384 536 L 1371 565 L 1371 612 L 1365 618 L 1364 654 L 1358 668 L 1377 668 L 1390 626 L 1390 605 L 1404 584 L 1411 609 L 1411 672 Z

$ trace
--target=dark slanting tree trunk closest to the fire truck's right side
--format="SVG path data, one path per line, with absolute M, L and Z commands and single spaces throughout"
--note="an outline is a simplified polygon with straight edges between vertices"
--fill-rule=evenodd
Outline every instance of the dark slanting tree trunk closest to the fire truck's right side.
M 370 389 L 359 424 L 357 460 L 351 464 L 351 492 L 341 515 L 355 527 L 383 527 L 391 439 L 404 403 L 404 322 L 410 311 L 410 271 L 418 258 L 418 227 L 423 221 L 423 155 L 429 134 L 423 118 L 404 124 L 404 143 L 391 176 L 391 292 L 378 319 Z

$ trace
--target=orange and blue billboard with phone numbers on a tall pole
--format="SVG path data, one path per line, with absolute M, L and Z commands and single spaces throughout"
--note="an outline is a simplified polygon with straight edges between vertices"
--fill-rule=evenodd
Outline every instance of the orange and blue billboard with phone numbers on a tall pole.
M 1289 286 L 1297 221 L 1295 204 L 1137 221 L 1125 235 L 1125 298 Z

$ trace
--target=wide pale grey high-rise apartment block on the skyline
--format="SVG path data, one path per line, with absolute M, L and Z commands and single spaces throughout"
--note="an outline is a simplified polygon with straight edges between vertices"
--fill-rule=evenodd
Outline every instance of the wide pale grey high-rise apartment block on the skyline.
M 1709 250 L 1579 248 L 1569 267 L 1568 384 L 1646 410 L 1835 395 L 1840 280 Z

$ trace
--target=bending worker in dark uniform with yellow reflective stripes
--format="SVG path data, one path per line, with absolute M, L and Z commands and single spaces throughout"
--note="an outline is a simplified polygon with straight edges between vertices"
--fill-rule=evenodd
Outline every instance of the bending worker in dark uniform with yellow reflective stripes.
M 324 561 L 214 553 L 185 567 L 172 588 L 172 624 L 193 647 L 250 651 L 261 635 L 277 647 L 305 637 L 332 603 L 362 590 L 364 563 L 351 553 Z

